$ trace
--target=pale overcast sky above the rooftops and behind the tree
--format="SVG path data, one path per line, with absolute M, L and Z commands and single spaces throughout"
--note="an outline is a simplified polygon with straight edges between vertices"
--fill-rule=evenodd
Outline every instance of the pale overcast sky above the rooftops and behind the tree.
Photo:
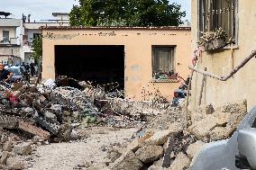
M 182 5 L 187 12 L 184 18 L 190 20 L 190 0 L 169 0 Z M 0 11 L 13 13 L 12 17 L 21 19 L 23 13 L 31 14 L 31 20 L 52 19 L 51 13 L 69 13 L 78 0 L 0 0 Z

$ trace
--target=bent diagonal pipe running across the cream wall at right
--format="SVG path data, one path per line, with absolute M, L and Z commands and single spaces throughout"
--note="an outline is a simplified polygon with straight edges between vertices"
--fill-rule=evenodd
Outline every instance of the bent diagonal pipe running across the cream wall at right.
M 195 67 L 190 67 L 189 66 L 188 68 L 197 72 L 197 73 L 199 73 L 199 74 L 209 76 L 211 78 L 215 78 L 215 79 L 220 80 L 220 81 L 226 81 L 230 77 L 232 77 L 236 72 L 238 72 L 242 67 L 244 67 L 251 60 L 251 58 L 253 58 L 253 57 L 256 57 L 256 50 L 252 50 L 251 54 L 247 58 L 244 58 L 240 65 L 238 65 L 237 67 L 234 67 L 233 70 L 227 76 L 217 76 L 215 74 L 208 73 L 206 71 L 197 69 Z

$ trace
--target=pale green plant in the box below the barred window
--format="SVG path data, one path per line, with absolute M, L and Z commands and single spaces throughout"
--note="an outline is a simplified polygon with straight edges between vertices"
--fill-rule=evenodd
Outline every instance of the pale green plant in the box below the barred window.
M 202 36 L 200 37 L 198 42 L 200 46 L 204 46 L 211 40 L 225 39 L 227 37 L 225 31 L 221 27 L 219 29 L 216 29 L 215 31 L 200 31 L 200 33 L 202 33 Z

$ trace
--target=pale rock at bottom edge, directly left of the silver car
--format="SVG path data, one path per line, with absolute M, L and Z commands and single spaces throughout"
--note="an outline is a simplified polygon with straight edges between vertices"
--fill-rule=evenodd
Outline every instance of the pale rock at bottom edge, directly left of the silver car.
M 186 169 L 190 164 L 189 158 L 182 152 L 178 153 L 175 160 L 169 166 L 169 170 L 183 170 Z

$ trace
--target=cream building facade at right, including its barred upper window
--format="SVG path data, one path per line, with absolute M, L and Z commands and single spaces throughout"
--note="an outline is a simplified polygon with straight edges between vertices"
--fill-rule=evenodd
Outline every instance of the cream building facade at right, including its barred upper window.
M 224 28 L 227 33 L 224 48 L 203 51 L 198 58 L 196 69 L 216 76 L 227 76 L 234 67 L 239 66 L 256 48 L 256 11 L 253 0 L 191 0 L 192 6 L 192 50 L 198 47 L 199 31 L 213 31 Z M 212 6 L 212 4 L 215 4 Z M 231 45 L 233 44 L 233 45 Z M 252 58 L 235 75 L 226 81 L 206 76 L 202 103 L 223 103 L 247 99 L 248 109 L 256 103 L 256 61 Z M 197 106 L 201 96 L 203 75 L 194 73 L 192 79 L 191 105 Z

